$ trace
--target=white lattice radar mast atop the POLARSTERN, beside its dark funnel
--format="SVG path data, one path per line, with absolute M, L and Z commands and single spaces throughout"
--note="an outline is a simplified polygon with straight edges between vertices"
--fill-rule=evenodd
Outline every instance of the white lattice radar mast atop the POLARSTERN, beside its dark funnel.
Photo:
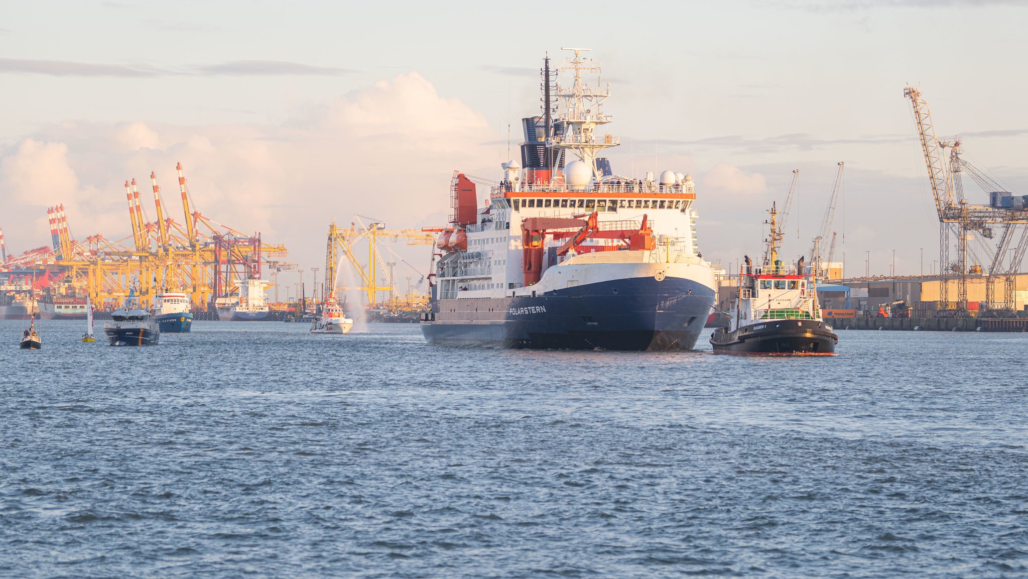
M 592 169 L 593 176 L 599 178 L 596 156 L 601 150 L 620 144 L 620 140 L 612 135 L 602 135 L 599 140 L 595 135 L 598 125 L 614 120 L 613 116 L 600 112 L 603 101 L 611 96 L 611 85 L 608 84 L 600 89 L 598 86 L 588 86 L 583 82 L 583 72 L 599 75 L 600 71 L 599 65 L 592 59 L 582 58 L 582 52 L 588 51 L 589 48 L 562 47 L 561 50 L 571 50 L 575 52 L 575 57 L 566 59 L 557 71 L 573 73 L 574 80 L 571 87 L 557 82 L 556 97 L 564 107 L 563 113 L 557 118 L 563 120 L 564 134 L 547 135 L 546 144 L 547 147 L 566 149 L 575 153 Z

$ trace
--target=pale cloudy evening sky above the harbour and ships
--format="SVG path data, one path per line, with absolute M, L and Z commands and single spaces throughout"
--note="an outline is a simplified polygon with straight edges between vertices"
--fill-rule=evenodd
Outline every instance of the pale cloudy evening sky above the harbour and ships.
M 903 88 L 1028 194 L 1026 29 L 1028 2 L 987 0 L 0 0 L 0 227 L 9 253 L 46 245 L 64 204 L 77 239 L 124 238 L 124 181 L 147 193 L 151 171 L 181 222 L 181 161 L 194 210 L 320 266 L 333 218 L 439 225 L 453 171 L 499 179 L 543 57 L 581 46 L 611 84 L 615 171 L 690 173 L 707 259 L 763 253 L 794 169 L 783 253 L 809 255 L 842 160 L 846 274 L 893 255 L 928 273 L 938 221 Z M 400 251 L 427 269 L 427 248 Z

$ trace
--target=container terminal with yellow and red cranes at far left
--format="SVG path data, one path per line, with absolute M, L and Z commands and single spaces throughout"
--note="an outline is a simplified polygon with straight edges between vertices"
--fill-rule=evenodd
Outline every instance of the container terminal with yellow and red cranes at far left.
M 199 211 L 189 193 L 182 165 L 177 166 L 183 220 L 171 215 L 156 173 L 150 174 L 155 218 L 150 219 L 136 179 L 125 181 L 132 234 L 110 240 L 102 234 L 79 241 L 72 236 L 63 205 L 47 209 L 50 245 L 8 255 L 0 241 L 0 316 L 84 319 L 86 298 L 98 318 L 123 305 L 133 280 L 138 299 L 152 305 L 164 290 L 188 294 L 197 312 L 215 312 L 232 300 L 247 280 L 265 272 L 295 268 L 280 261 L 288 250 L 268 244 L 259 232 L 245 234 Z M 2 232 L 0 232 L 2 240 Z M 30 297 L 35 296 L 35 299 Z

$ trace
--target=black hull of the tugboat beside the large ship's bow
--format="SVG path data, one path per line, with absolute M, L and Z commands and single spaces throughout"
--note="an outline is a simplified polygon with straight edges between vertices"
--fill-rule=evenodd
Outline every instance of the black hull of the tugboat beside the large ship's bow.
M 768 320 L 710 335 L 714 354 L 740 356 L 833 356 L 839 336 L 818 320 Z

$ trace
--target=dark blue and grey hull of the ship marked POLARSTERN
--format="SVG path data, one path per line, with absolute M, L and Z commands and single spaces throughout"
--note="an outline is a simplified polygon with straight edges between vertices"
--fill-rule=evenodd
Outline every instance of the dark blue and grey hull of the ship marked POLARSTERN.
M 713 289 L 633 278 L 537 296 L 444 299 L 421 321 L 429 343 L 561 350 L 691 350 Z

